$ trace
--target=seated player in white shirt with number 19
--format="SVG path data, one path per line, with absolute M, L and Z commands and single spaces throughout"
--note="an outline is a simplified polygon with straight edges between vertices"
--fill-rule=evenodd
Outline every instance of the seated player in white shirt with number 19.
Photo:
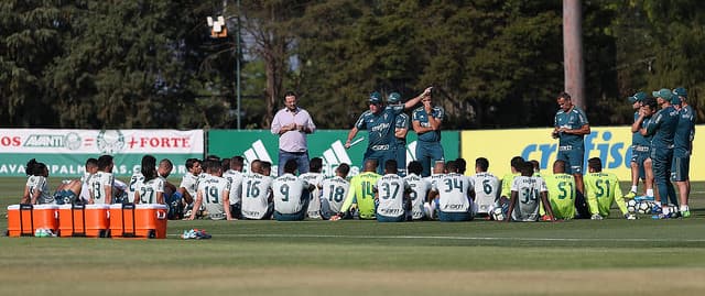
M 230 213 L 230 182 L 223 177 L 220 162 L 206 160 L 204 163 L 208 175 L 198 182 L 194 208 L 206 208 L 212 220 L 232 220 Z M 188 220 L 196 219 L 196 212 L 192 211 Z

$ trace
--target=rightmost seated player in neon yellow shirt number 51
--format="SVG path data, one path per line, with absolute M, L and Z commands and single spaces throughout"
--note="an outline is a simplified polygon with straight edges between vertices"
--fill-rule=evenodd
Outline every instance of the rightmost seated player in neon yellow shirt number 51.
M 609 216 L 609 208 L 615 201 L 625 218 L 636 219 L 636 216 L 627 211 L 617 175 L 603 172 L 603 162 L 598 157 L 587 160 L 587 169 L 589 173 L 585 175 L 585 191 L 593 215 L 590 219 L 603 220 Z

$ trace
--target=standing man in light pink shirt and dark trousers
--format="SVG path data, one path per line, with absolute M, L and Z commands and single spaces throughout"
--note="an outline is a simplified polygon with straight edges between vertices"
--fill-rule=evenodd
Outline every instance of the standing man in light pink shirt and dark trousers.
M 279 135 L 279 174 L 284 164 L 295 160 L 299 174 L 308 172 L 308 143 L 306 135 L 316 131 L 311 114 L 297 106 L 299 97 L 293 91 L 284 95 L 284 109 L 272 120 L 272 133 Z

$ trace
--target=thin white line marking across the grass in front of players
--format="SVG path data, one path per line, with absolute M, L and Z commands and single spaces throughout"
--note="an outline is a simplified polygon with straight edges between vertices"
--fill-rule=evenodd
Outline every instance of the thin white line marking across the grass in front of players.
M 492 238 L 492 237 L 451 237 L 451 235 L 341 235 L 341 234 L 237 234 L 210 233 L 226 238 L 276 238 L 276 239 L 389 239 L 389 240 L 460 240 L 460 241 L 615 241 L 615 242 L 705 242 L 705 239 L 584 239 L 584 238 Z M 178 237 L 180 234 L 169 234 Z

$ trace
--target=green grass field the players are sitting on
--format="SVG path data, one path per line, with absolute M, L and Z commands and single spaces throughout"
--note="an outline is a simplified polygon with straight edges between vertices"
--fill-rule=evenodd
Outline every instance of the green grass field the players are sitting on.
M 23 184 L 0 178 L 2 217 Z M 0 295 L 699 295 L 705 183 L 693 191 L 692 218 L 660 221 L 197 220 L 169 221 L 166 240 L 0 238 Z M 178 239 L 189 228 L 213 239 Z

